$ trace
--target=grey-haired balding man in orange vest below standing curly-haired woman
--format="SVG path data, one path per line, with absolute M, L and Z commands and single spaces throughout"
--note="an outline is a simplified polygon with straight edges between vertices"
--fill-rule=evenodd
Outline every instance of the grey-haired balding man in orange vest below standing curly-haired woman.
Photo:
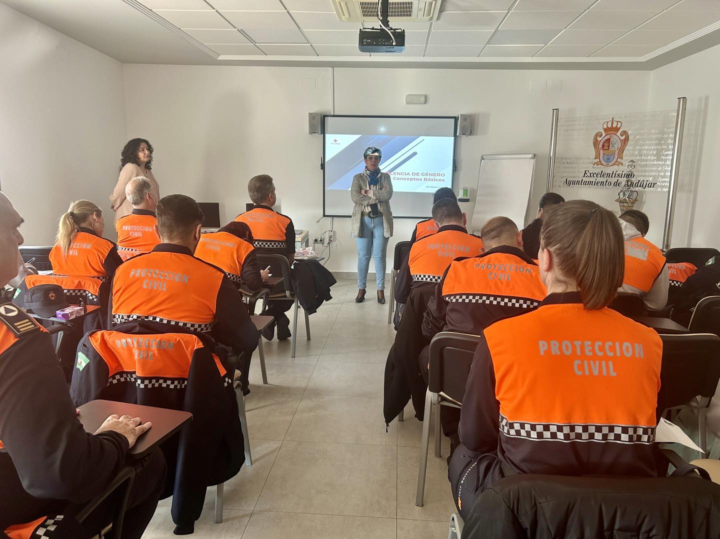
M 135 176 L 125 186 L 125 198 L 132 204 L 132 213 L 120 217 L 115 223 L 117 252 L 122 260 L 149 253 L 160 243 L 153 184 L 144 176 Z

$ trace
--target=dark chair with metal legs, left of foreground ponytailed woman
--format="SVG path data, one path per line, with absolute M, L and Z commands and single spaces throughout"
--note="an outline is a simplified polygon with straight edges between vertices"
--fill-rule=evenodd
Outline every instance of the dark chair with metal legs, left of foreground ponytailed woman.
M 479 335 L 439 332 L 430 342 L 430 372 L 425 397 L 423 436 L 420 438 L 420 466 L 418 468 L 418 492 L 415 505 L 423 507 L 425 476 L 428 468 L 428 444 L 430 443 L 430 420 L 435 406 L 435 456 L 440 456 L 440 407 L 462 407 L 465 384 L 472 366 Z

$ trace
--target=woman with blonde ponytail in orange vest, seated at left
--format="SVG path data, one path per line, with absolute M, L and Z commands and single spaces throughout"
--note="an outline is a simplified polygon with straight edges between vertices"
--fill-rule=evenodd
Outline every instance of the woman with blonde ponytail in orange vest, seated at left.
M 76 200 L 58 225 L 58 237 L 50 250 L 55 275 L 80 275 L 112 281 L 122 258 L 115 244 L 102 237 L 102 210 L 89 200 Z

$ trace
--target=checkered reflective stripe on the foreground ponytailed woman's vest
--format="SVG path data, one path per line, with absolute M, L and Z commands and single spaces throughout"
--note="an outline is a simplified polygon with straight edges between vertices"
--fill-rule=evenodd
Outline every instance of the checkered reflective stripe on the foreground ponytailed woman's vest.
M 510 438 L 532 441 L 651 444 L 655 440 L 655 427 L 593 423 L 530 423 L 508 421 L 502 415 L 500 416 L 500 432 Z

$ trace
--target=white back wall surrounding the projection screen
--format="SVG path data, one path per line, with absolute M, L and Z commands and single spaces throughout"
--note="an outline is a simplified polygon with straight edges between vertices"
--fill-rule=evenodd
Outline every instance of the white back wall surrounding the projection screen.
M 269 173 L 282 212 L 297 228 L 311 234 L 328 228 L 329 219 L 315 224 L 322 214 L 322 138 L 307 134 L 307 113 L 331 112 L 329 68 L 123 68 L 127 137 L 148 137 L 156 148 L 153 171 L 162 194 L 220 201 L 221 218 L 229 220 L 248 201 L 248 179 Z M 567 116 L 643 111 L 649 77 L 642 71 L 336 68 L 335 113 L 472 113 L 474 135 L 457 142 L 455 186 L 477 185 L 483 153 L 536 153 L 536 204 L 545 190 L 551 109 Z M 554 81 L 562 91 L 531 92 L 533 80 Z M 408 93 L 428 94 L 428 104 L 405 105 Z M 472 204 L 465 209 L 472 215 Z M 414 224 L 395 220 L 389 253 L 396 241 L 409 239 Z M 350 219 L 334 219 L 333 228 L 337 243 L 328 268 L 355 271 Z

